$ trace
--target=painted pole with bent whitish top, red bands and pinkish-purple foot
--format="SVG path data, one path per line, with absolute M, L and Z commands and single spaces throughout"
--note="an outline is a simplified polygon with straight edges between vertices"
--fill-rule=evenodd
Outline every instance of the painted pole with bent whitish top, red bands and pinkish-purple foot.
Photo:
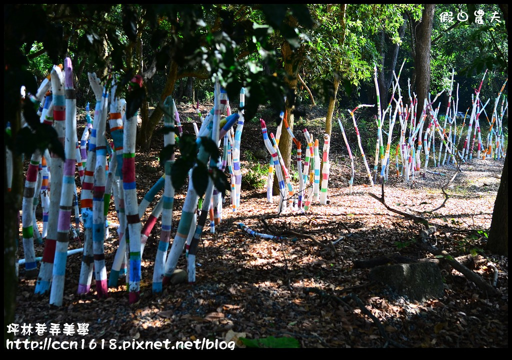
M 80 208 L 83 221 L 83 256 L 78 280 L 78 294 L 86 294 L 91 288 L 91 280 L 94 265 L 93 252 L 93 187 L 94 168 L 96 166 L 96 132 L 102 116 L 101 100 L 103 88 L 96 73 L 88 73 L 89 83 L 96 97 L 94 121 L 92 122 L 89 139 L 89 151 L 87 154 L 86 170 L 84 171 L 82 189 L 80 192 Z

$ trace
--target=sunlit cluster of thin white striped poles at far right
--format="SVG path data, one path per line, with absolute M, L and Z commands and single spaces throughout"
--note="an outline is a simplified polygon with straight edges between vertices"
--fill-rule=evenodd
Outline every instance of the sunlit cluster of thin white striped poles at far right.
M 430 95 L 429 99 L 423 100 L 422 112 L 418 121 L 416 121 L 418 99 L 416 97 L 416 94 L 414 94 L 414 97 L 411 95 L 410 83 L 408 82 L 409 104 L 404 104 L 403 97 L 401 95 L 401 89 L 398 84 L 400 72 L 401 68 L 398 73 L 398 76 L 395 75 L 392 88 L 392 96 L 387 105 L 387 108 L 385 111 L 381 112 L 380 96 L 377 85 L 377 69 L 376 67 L 374 67 L 374 80 L 377 92 L 377 116 L 375 117 L 377 125 L 377 136 L 373 174 L 370 170 L 370 166 L 365 156 L 365 152 L 362 148 L 361 138 L 359 130 L 357 128 L 354 113 L 357 109 L 361 107 L 374 107 L 374 105 L 362 104 L 358 105 L 358 107 L 356 107 L 352 111 L 348 110 L 349 114 L 352 117 L 354 130 L 357 136 L 359 151 L 361 153 L 362 161 L 367 171 L 370 185 L 373 186 L 373 184 L 377 182 L 379 158 L 379 182 L 388 180 L 389 169 L 392 164 L 392 159 L 390 159 L 390 148 L 392 143 L 393 130 L 397 119 L 398 123 L 400 124 L 400 129 L 399 140 L 398 144 L 396 145 L 395 151 L 395 171 L 397 177 L 403 177 L 404 180 L 406 181 L 413 179 L 414 176 L 417 176 L 418 174 L 421 174 L 424 177 L 426 173 L 434 173 L 428 170 L 429 162 L 431 159 L 434 163 L 433 166 L 436 167 L 444 164 L 457 164 L 457 162 L 460 161 L 471 160 L 473 158 L 474 150 L 476 150 L 476 158 L 485 159 L 486 157 L 494 157 L 495 159 L 500 159 L 501 157 L 503 157 L 504 136 L 502 130 L 502 120 L 505 115 L 505 112 L 508 109 L 508 102 L 506 101 L 506 97 L 504 95 L 502 96 L 502 92 L 505 88 L 507 80 L 505 80 L 505 83 L 503 84 L 501 90 L 499 91 L 498 96 L 495 98 L 492 120 L 489 120 L 488 117 L 486 116 L 487 124 L 489 125 L 489 132 L 486 139 L 486 146 L 484 146 L 480 134 L 480 115 L 482 114 L 482 112 L 486 114 L 485 107 L 490 100 L 487 99 L 487 101 L 484 104 L 482 104 L 479 98 L 484 78 L 482 78 L 479 88 L 475 89 L 475 96 L 472 98 L 472 107 L 467 109 L 466 114 L 464 115 L 463 118 L 463 123 L 460 126 L 460 132 L 458 132 L 456 118 L 458 114 L 459 104 L 459 85 L 457 84 L 457 90 L 455 91 L 455 94 L 453 94 L 454 71 L 452 71 L 451 87 L 448 91 L 448 101 L 446 104 L 446 112 L 444 114 L 442 126 L 440 125 L 438 118 L 441 103 L 439 102 L 437 107 L 435 108 L 433 105 L 436 103 L 437 98 L 444 91 L 438 93 L 433 100 L 431 100 Z M 501 108 L 500 110 L 498 110 L 500 99 Z M 395 105 L 394 111 L 393 102 Z M 472 109 L 472 111 L 468 119 L 469 121 L 467 126 L 466 137 L 462 149 L 459 150 L 458 144 L 460 139 L 462 138 L 462 134 L 465 129 L 466 118 L 470 109 Z M 388 115 L 389 125 L 387 128 L 387 132 L 383 127 L 386 115 Z M 347 135 L 345 133 L 345 128 L 343 126 L 342 120 L 338 119 L 338 124 L 340 126 L 340 130 L 342 131 L 342 136 L 345 145 L 347 146 L 347 151 L 351 161 L 352 176 L 349 181 L 349 194 L 351 194 L 352 185 L 354 181 L 354 157 L 352 154 L 352 150 L 350 149 L 350 144 L 347 139 Z M 425 126 L 426 129 L 423 131 Z M 382 134 L 388 135 L 387 143 L 383 142 Z M 435 149 L 436 136 L 438 137 L 437 153 Z M 493 144 L 495 144 L 494 147 Z M 420 157 L 422 153 L 424 154 L 423 166 L 421 166 Z

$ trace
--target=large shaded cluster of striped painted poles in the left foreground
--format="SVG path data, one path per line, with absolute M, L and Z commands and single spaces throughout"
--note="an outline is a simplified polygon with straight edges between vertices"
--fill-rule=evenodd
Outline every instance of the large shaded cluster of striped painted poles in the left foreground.
M 214 196 L 213 182 L 211 179 L 208 182 L 198 217 L 196 208 L 199 197 L 194 188 L 193 180 L 191 176 L 189 177 L 187 197 L 180 223 L 173 246 L 167 256 L 174 202 L 174 188 L 170 176 L 174 154 L 165 162 L 165 174 L 138 204 L 135 182 L 137 113 L 130 118 L 125 117 L 125 101 L 115 96 L 115 78 L 112 79 L 109 94 L 108 88 L 102 86 L 96 75 L 89 73 L 90 84 L 97 103 L 94 120 L 90 117 L 89 108 L 87 109 L 86 129 L 80 142 L 78 142 L 76 134 L 76 97 L 72 81 L 71 59 L 66 58 L 63 71 L 61 69 L 62 67 L 55 66 L 51 75 L 43 81 L 37 93 L 35 95 L 29 94 L 29 98 L 34 102 L 42 99 L 39 114 L 41 121 L 54 127 L 59 140 L 64 145 L 66 155 L 65 160 L 62 160 L 55 154 L 48 153 L 48 151 L 44 154 L 45 156 L 36 152 L 32 156 L 27 172 L 22 208 L 25 259 L 20 263 L 25 264 L 28 273 L 29 271 L 36 271 L 36 261 L 41 261 L 35 292 L 40 294 L 50 293 L 51 304 L 62 304 L 67 256 L 76 252 L 74 250 L 68 251 L 70 226 L 73 228 L 71 225 L 73 207 L 75 207 L 75 218 L 78 222 L 76 224 L 77 229 L 74 229 L 75 237 L 79 231 L 79 222 L 83 223 L 84 228 L 78 293 L 88 293 L 90 291 L 93 273 L 98 297 L 106 297 L 108 287 L 117 286 L 118 278 L 125 276 L 129 290 L 129 301 L 130 303 L 136 302 L 140 292 L 141 257 L 145 240 L 150 235 L 160 214 L 162 214 L 162 229 L 155 259 L 153 290 L 155 292 L 162 290 L 162 284 L 172 275 L 185 244 L 187 246 L 189 282 L 194 283 L 196 276 L 195 257 L 206 217 L 208 214 L 211 217 L 214 205 L 218 213 L 222 209 L 219 192 L 217 192 L 217 196 Z M 108 122 L 112 136 L 111 142 L 105 137 L 109 101 L 110 120 Z M 227 116 L 222 121 L 220 116 L 226 112 L 229 115 L 230 111 L 227 94 L 220 89 L 218 82 L 216 82 L 215 101 L 215 108 L 210 111 L 208 116 L 205 119 L 202 116 L 200 117 L 202 120 L 201 128 L 197 129 L 195 124 L 199 144 L 198 160 L 204 163 L 208 162 L 209 155 L 204 149 L 202 139 L 210 138 L 220 145 L 219 139 L 224 138 L 223 161 L 221 162 L 221 159 L 210 159 L 209 166 L 224 170 L 226 165 L 230 164 L 232 187 L 235 189 L 232 192 L 232 208 L 236 210 L 236 206 L 240 204 L 241 174 L 239 155 L 237 154 L 240 154 L 245 91 L 242 89 L 240 93 L 239 113 Z M 164 107 L 166 109 L 164 126 L 169 130 L 164 135 L 164 143 L 165 145 L 172 145 L 176 141 L 177 134 L 182 134 L 181 123 L 172 98 L 168 97 L 164 101 Z M 237 131 L 233 132 L 232 126 L 237 122 Z M 227 161 L 228 152 L 234 154 L 230 162 Z M 77 177 L 82 185 L 81 214 L 76 210 L 78 207 L 75 186 Z M 53 191 L 49 189 L 50 178 Z M 140 221 L 142 216 L 162 187 L 164 188 L 163 196 L 154 206 L 152 214 L 142 226 Z M 37 231 L 37 235 L 35 235 L 34 229 L 38 229 L 35 221 L 35 207 L 38 204 L 36 200 L 39 198 L 35 194 L 39 194 L 39 192 L 45 214 L 44 219 L 46 220 L 46 214 L 48 214 L 48 221 L 47 225 L 45 222 L 43 234 L 39 234 Z M 110 279 L 107 279 L 103 246 L 106 237 L 105 223 L 108 223 L 106 222 L 106 215 L 112 196 L 119 219 L 117 231 L 120 241 L 110 272 Z M 213 218 L 211 218 L 211 222 L 214 222 Z M 39 259 L 35 257 L 33 241 L 34 238 L 39 239 L 41 237 L 46 237 L 46 242 L 43 256 Z

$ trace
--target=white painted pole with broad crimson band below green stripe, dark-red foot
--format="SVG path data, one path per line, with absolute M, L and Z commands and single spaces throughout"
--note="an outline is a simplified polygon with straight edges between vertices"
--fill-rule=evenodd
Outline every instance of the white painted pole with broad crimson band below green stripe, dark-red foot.
M 132 86 L 142 87 L 142 76 L 136 75 L 132 79 Z M 129 90 L 130 91 L 130 90 Z M 129 284 L 128 301 L 134 304 L 139 300 L 141 259 L 140 259 L 140 217 L 137 203 L 137 184 L 135 183 L 135 139 L 137 134 L 137 113 L 126 117 L 123 133 L 123 192 L 124 210 L 126 211 L 127 238 L 130 240 Z

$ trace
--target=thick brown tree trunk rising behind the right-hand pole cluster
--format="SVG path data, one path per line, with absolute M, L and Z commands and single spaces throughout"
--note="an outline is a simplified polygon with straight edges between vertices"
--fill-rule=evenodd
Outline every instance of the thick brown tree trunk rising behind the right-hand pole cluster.
M 432 46 L 432 25 L 434 20 L 435 4 L 425 4 L 420 22 L 412 24 L 412 38 L 414 43 L 414 82 L 419 103 L 428 98 L 430 89 L 430 50 Z M 421 111 L 418 111 L 418 120 Z

